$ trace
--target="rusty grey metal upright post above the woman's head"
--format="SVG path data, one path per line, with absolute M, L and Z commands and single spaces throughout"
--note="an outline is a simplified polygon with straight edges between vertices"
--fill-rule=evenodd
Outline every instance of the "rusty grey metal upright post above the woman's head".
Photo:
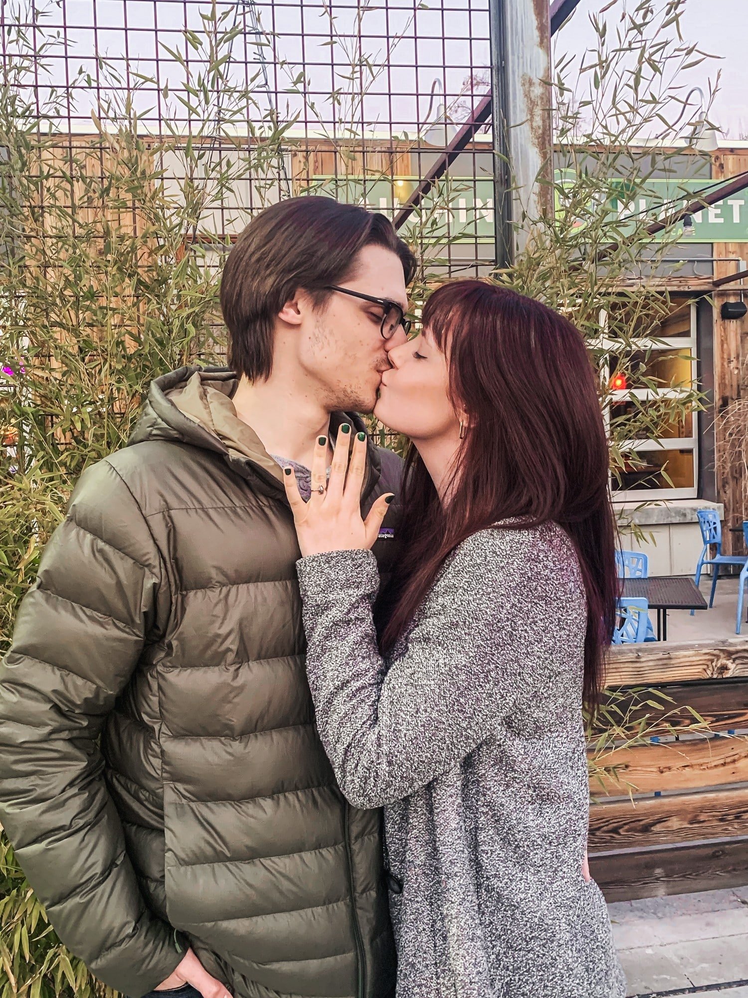
M 552 212 L 554 207 L 550 8 L 548 0 L 495 0 L 495 6 L 502 8 L 506 39 L 503 84 L 512 246 L 523 250 L 529 220 Z

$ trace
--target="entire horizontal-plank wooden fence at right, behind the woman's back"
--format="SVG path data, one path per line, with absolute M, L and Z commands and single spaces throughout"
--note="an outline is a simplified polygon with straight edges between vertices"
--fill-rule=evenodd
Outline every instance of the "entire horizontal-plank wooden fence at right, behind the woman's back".
M 590 779 L 589 866 L 606 899 L 748 884 L 748 639 L 622 646 L 607 685 L 624 703 L 636 687 L 672 703 L 666 735 L 595 759 L 616 767 Z M 686 731 L 689 708 L 708 733 Z

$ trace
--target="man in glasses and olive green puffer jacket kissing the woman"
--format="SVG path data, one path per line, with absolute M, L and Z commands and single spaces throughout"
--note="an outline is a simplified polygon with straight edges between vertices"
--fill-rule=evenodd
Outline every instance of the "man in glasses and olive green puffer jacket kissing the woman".
M 0 820 L 63 941 L 128 995 L 394 991 L 380 816 L 347 804 L 314 728 L 281 464 L 363 429 L 414 268 L 361 208 L 255 218 L 221 284 L 235 374 L 153 383 L 20 609 Z M 364 509 L 400 476 L 368 457 Z

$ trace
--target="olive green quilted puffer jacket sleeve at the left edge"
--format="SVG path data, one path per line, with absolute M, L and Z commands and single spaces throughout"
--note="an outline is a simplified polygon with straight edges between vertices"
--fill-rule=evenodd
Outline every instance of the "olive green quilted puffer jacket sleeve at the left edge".
M 141 895 L 98 738 L 165 591 L 147 521 L 102 461 L 45 549 L 0 668 L 0 820 L 62 941 L 135 998 L 184 951 Z

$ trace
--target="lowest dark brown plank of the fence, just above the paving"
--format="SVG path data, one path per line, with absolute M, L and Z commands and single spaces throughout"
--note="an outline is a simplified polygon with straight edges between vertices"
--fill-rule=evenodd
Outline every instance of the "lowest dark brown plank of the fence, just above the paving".
M 748 884 L 748 837 L 589 856 L 607 901 L 685 894 Z

